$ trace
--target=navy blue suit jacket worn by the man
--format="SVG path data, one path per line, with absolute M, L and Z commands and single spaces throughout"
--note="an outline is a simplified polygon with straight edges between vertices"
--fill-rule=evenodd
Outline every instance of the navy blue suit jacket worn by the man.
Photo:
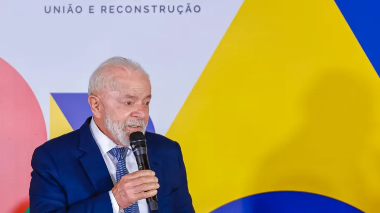
M 30 213 L 112 213 L 113 182 L 90 130 L 81 128 L 45 142 L 32 157 Z M 193 213 L 181 147 L 146 132 L 150 169 L 156 173 L 156 213 Z

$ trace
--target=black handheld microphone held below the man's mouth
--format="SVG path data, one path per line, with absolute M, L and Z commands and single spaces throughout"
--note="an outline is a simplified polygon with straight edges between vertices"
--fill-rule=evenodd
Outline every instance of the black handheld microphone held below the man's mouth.
M 131 142 L 132 151 L 139 170 L 150 170 L 144 134 L 142 132 L 133 132 L 129 136 L 129 141 Z M 158 210 L 157 195 L 146 198 L 146 202 L 151 212 Z

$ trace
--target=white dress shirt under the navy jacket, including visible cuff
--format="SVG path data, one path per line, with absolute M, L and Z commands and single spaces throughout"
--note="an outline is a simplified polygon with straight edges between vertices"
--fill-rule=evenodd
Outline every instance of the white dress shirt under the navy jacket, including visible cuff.
M 93 133 L 95 142 L 99 146 L 104 162 L 107 165 L 109 175 L 111 176 L 112 181 L 113 181 L 113 185 L 115 185 L 117 159 L 114 158 L 111 155 L 111 153 L 109 153 L 108 151 L 119 145 L 117 145 L 115 142 L 113 142 L 106 135 L 104 135 L 104 133 L 100 131 L 100 129 L 95 124 L 94 117 L 91 119 L 90 129 L 91 129 L 91 132 Z M 132 152 L 131 146 L 128 147 L 127 156 L 125 158 L 125 164 L 127 166 L 129 173 L 133 173 L 139 170 L 139 168 L 137 167 L 136 158 Z M 123 210 L 120 210 L 119 212 L 119 205 L 117 204 L 112 191 L 109 191 L 109 196 L 111 198 L 113 213 L 124 213 Z M 138 204 L 139 204 L 140 213 L 148 213 L 148 205 L 145 199 L 139 200 Z

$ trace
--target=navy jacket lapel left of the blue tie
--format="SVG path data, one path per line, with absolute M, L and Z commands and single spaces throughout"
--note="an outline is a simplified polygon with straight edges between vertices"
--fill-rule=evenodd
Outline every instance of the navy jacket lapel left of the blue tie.
M 90 130 L 91 117 L 81 127 L 79 149 L 84 155 L 79 158 L 87 177 L 90 179 L 96 192 L 109 191 L 113 187 L 112 179 L 107 166 Z

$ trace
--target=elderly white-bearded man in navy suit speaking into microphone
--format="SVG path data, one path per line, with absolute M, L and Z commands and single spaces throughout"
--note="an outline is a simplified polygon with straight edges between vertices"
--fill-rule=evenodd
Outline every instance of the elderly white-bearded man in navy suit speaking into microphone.
M 36 148 L 30 183 L 31 213 L 192 213 L 180 145 L 145 132 L 151 98 L 148 74 L 114 57 L 90 77 L 94 116 L 81 128 Z M 145 134 L 151 170 L 138 171 L 129 135 Z

